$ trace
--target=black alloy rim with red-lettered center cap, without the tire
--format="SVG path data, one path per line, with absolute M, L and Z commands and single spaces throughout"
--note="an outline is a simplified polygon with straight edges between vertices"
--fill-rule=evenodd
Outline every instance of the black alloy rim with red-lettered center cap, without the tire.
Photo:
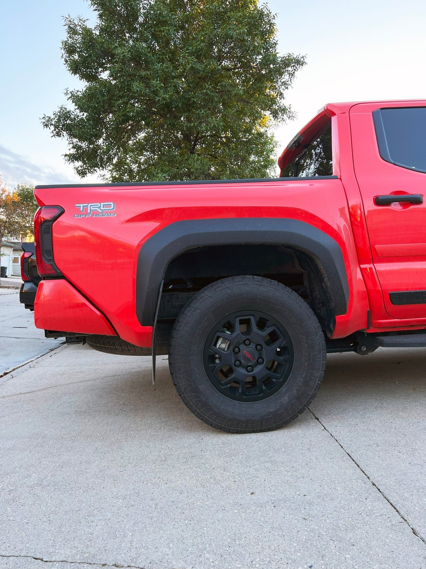
M 293 361 L 289 334 L 265 312 L 225 316 L 204 346 L 209 380 L 236 401 L 260 401 L 273 395 L 289 378 Z

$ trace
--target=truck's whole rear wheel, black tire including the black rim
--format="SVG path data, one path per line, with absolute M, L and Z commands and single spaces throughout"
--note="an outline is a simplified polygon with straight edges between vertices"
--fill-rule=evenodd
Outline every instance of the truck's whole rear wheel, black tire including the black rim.
M 325 358 L 324 334 L 308 304 L 276 281 L 250 276 L 198 292 L 169 345 L 170 373 L 185 405 L 204 423 L 236 433 L 272 431 L 303 413 Z

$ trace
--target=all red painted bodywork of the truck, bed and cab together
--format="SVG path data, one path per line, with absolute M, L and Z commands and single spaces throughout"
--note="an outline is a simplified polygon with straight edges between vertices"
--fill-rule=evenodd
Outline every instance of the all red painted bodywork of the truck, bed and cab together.
M 307 140 L 331 117 L 337 179 L 36 189 L 40 205 L 58 204 L 65 210 L 53 224 L 56 266 L 70 290 L 81 292 L 90 318 L 95 306 L 96 321 L 110 321 L 123 340 L 149 347 L 152 328 L 140 325 L 135 310 L 137 257 L 149 237 L 182 220 L 291 218 L 327 233 L 343 253 L 349 304 L 346 314 L 336 316 L 333 338 L 365 329 L 367 311 L 371 332 L 425 328 L 426 305 L 393 306 L 389 301 L 389 291 L 426 288 L 426 204 L 383 208 L 374 204 L 374 196 L 424 193 L 426 174 L 396 167 L 379 155 L 371 113 L 386 106 L 426 106 L 426 101 L 330 104 L 300 131 Z M 294 155 L 286 149 L 280 166 Z M 77 217 L 76 204 L 110 202 L 114 216 Z M 45 281 L 43 287 L 51 282 L 59 281 Z M 56 329 L 53 313 L 59 308 L 52 307 L 59 300 L 51 298 L 37 292 L 36 325 Z M 80 300 L 78 306 L 83 304 Z M 83 312 L 77 314 L 81 327 Z

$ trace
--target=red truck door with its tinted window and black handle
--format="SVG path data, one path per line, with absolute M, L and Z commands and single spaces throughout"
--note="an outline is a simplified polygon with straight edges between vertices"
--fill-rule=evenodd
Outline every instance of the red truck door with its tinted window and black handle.
M 425 318 L 426 101 L 354 105 L 349 117 L 386 311 L 392 318 Z

